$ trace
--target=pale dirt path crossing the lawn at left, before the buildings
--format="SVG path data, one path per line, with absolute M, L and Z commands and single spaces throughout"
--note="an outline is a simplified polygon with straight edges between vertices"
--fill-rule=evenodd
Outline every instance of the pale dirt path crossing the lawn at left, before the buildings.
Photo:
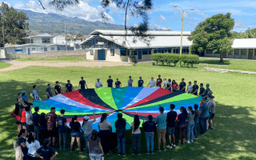
M 84 61 L 84 62 L 60 62 L 60 61 L 2 61 L 8 62 L 11 66 L 0 69 L 0 72 L 9 70 L 18 70 L 26 68 L 27 66 L 54 66 L 54 67 L 66 67 L 66 66 L 86 66 L 86 67 L 102 67 L 102 66 L 131 66 L 126 62 L 106 62 L 106 61 Z

